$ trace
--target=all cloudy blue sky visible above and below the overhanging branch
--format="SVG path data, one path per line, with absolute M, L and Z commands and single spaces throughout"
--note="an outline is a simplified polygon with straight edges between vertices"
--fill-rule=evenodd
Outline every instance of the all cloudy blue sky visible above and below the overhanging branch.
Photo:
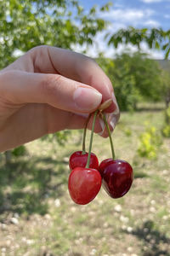
M 94 4 L 101 7 L 107 2 L 105 0 L 79 0 L 85 10 L 90 9 Z M 98 13 L 99 17 L 111 21 L 111 25 L 108 27 L 109 32 L 113 33 L 127 26 L 170 29 L 170 0 L 112 0 L 110 2 L 113 5 L 109 12 Z M 112 46 L 108 47 L 102 37 L 103 33 L 99 33 L 95 38 L 94 45 L 89 47 L 88 55 L 95 57 L 98 51 L 103 51 L 105 56 L 114 57 L 116 53 L 119 54 L 125 49 L 124 45 L 120 45 L 118 49 L 114 49 Z M 127 45 L 127 48 L 131 51 L 137 50 L 130 44 Z M 141 49 L 152 58 L 163 59 L 163 52 L 150 50 L 146 44 L 142 44 Z M 81 48 L 77 46 L 76 50 L 80 51 Z

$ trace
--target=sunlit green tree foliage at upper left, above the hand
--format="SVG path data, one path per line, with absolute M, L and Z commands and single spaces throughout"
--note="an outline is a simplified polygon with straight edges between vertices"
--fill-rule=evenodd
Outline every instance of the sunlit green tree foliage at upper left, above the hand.
M 100 11 L 108 11 L 110 3 Z M 71 49 L 73 44 L 92 44 L 94 36 L 105 29 L 105 20 L 88 12 L 77 0 L 0 1 L 0 68 L 14 61 L 14 51 L 26 52 L 48 44 Z

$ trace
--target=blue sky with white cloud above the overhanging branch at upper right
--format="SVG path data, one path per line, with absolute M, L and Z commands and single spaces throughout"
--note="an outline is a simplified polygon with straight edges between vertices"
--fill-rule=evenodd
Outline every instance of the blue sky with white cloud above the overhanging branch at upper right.
M 79 1 L 85 9 L 94 4 L 102 6 L 105 0 Z M 105 18 L 124 26 L 170 28 L 170 0 L 115 0 L 111 12 Z

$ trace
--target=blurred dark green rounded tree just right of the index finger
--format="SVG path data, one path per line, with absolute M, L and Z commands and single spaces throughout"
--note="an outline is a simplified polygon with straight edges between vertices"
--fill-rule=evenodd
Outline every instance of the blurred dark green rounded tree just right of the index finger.
M 111 79 L 121 110 L 133 110 L 140 101 L 160 101 L 162 97 L 161 68 L 140 52 L 117 55 L 115 60 L 97 60 Z

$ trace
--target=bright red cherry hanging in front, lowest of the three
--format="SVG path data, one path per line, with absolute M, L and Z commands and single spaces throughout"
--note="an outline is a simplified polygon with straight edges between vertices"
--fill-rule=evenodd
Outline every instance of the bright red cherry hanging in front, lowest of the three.
M 92 168 L 76 167 L 71 171 L 68 189 L 71 199 L 79 205 L 86 205 L 94 200 L 101 188 L 99 171 Z

